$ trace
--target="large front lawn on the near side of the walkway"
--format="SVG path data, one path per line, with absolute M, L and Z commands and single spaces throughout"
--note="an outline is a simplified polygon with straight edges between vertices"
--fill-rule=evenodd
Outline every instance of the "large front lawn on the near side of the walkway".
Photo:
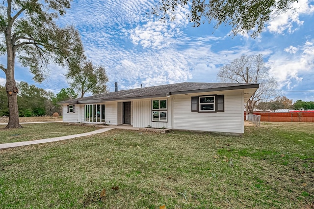
M 0 150 L 0 208 L 310 208 L 313 130 L 310 123 L 246 127 L 243 137 L 112 130 Z

